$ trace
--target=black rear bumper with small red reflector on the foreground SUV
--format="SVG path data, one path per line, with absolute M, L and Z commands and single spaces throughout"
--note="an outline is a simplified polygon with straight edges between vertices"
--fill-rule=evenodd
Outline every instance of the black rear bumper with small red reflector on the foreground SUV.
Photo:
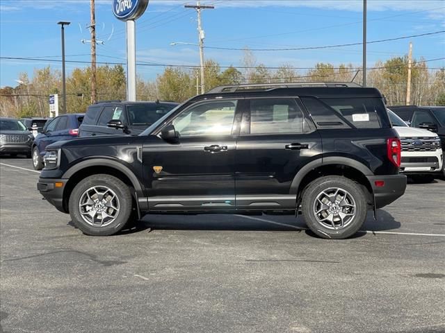
M 375 208 L 382 208 L 394 202 L 405 193 L 406 176 L 366 176 L 374 192 Z M 376 182 L 383 182 L 383 186 L 377 186 Z

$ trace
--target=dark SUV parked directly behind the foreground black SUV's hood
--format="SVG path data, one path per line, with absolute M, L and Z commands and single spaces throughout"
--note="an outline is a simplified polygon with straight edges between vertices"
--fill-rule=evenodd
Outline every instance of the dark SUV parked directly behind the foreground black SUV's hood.
M 138 135 L 177 105 L 160 101 L 99 102 L 88 107 L 79 136 Z

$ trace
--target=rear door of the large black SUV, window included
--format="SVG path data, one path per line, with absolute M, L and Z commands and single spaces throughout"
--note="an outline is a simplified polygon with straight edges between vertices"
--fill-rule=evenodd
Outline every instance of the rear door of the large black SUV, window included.
M 319 154 L 321 137 L 309 127 L 300 102 L 246 99 L 236 142 L 236 209 L 294 210 L 293 178 Z

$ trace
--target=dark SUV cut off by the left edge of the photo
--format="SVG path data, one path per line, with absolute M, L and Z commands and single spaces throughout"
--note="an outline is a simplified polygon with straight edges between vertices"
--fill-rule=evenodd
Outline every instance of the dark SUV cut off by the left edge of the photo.
M 32 143 L 33 135 L 19 119 L 0 118 L 0 155 L 31 157 Z

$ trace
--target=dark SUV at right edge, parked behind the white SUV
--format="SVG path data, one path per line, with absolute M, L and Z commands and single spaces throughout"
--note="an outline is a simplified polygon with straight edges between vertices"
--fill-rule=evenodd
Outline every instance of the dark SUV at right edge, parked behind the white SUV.
M 445 151 L 445 106 L 389 106 L 408 126 L 422 128 L 437 133 Z M 445 156 L 442 162 L 442 173 L 445 177 Z

